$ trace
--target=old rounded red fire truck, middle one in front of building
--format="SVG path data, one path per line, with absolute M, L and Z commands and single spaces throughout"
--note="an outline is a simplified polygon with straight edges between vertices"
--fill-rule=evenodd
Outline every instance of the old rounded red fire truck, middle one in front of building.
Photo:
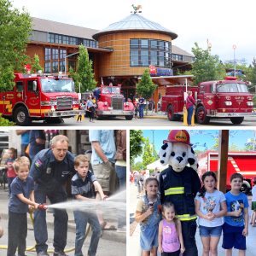
M 97 100 L 97 116 L 125 116 L 126 120 L 131 120 L 134 114 L 132 102 L 125 102 L 125 97 L 121 94 L 121 85 L 108 86 L 102 84 L 94 90 Z

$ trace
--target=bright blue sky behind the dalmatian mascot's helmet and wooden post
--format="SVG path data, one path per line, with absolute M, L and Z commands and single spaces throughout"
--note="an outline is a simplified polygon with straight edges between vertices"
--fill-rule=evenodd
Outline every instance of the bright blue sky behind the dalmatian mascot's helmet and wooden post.
M 154 131 L 154 132 L 153 132 Z M 229 144 L 236 144 L 241 150 L 245 147 L 248 138 L 255 137 L 255 130 L 230 130 Z M 163 140 L 168 137 L 169 130 L 143 130 L 143 136 L 148 137 L 150 143 L 153 143 L 154 133 L 154 148 L 159 152 Z M 195 150 L 207 150 L 212 148 L 215 143 L 214 137 L 218 137 L 219 130 L 190 130 L 190 143 L 195 145 Z

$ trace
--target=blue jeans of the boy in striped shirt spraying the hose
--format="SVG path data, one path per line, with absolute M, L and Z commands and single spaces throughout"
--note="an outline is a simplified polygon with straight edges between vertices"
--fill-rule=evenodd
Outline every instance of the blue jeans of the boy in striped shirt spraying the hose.
M 95 256 L 98 243 L 101 237 L 101 225 L 95 213 L 90 212 L 73 212 L 76 223 L 76 241 L 75 241 L 75 256 L 83 256 L 82 247 L 85 239 L 85 231 L 87 223 L 90 224 L 92 235 L 90 237 L 90 246 L 88 256 Z

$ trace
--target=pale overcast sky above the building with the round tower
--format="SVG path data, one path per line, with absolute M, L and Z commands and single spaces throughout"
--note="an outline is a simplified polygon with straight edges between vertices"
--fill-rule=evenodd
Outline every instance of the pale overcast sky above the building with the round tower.
M 34 17 L 99 30 L 130 15 L 132 3 L 134 0 L 13 0 L 16 8 L 25 6 Z M 145 18 L 176 32 L 173 44 L 189 52 L 195 42 L 205 49 L 209 39 L 212 54 L 222 60 L 233 58 L 233 44 L 237 59 L 251 63 L 256 57 L 253 0 L 140 0 L 136 4 L 143 6 Z

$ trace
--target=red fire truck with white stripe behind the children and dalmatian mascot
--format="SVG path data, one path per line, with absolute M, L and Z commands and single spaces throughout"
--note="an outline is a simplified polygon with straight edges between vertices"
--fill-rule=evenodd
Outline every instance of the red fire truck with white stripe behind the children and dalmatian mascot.
M 218 172 L 218 152 L 207 151 L 199 154 L 198 175 L 201 177 L 205 172 Z M 256 152 L 229 152 L 227 166 L 227 182 L 226 189 L 230 190 L 230 176 L 233 173 L 241 173 L 244 177 L 242 190 L 248 194 L 253 186 L 253 178 L 256 177 Z

